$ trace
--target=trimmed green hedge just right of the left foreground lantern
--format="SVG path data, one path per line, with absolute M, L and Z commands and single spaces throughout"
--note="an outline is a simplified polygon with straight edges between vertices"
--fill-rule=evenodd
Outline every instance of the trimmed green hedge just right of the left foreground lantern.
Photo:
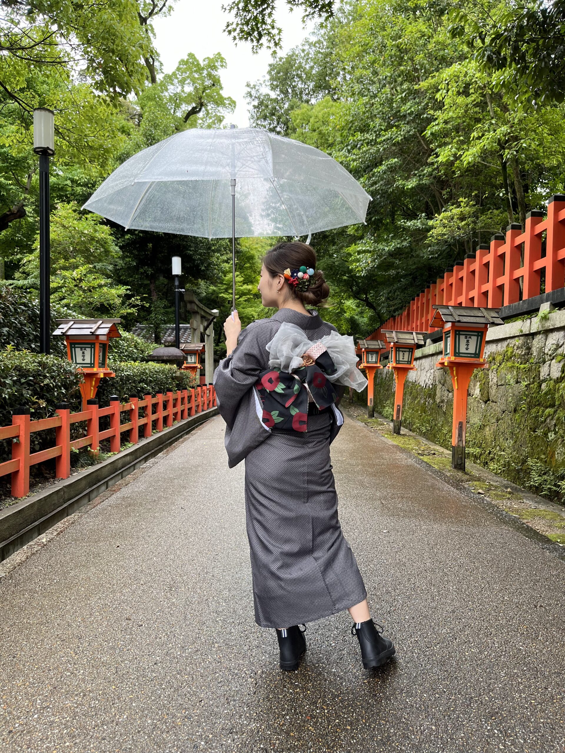
M 197 381 L 188 370 L 179 370 L 172 364 L 157 364 L 153 362 L 139 363 L 139 361 L 110 361 L 108 367 L 115 372 L 115 377 L 105 377 L 100 380 L 96 397 L 99 404 L 109 405 L 110 396 L 118 395 L 121 400 L 127 400 L 130 395 L 157 395 L 157 392 L 168 392 L 177 389 L 191 389 L 196 387 Z

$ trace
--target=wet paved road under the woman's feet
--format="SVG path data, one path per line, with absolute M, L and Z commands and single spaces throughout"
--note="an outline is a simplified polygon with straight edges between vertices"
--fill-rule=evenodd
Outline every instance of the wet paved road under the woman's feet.
M 346 420 L 341 521 L 397 646 L 255 625 L 243 465 L 210 420 L 0 579 L 0 750 L 563 751 L 565 563 Z

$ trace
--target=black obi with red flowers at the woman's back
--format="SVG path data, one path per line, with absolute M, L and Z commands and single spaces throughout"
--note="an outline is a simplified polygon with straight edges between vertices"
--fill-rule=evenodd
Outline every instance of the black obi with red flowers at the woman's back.
M 255 384 L 263 404 L 263 423 L 267 428 L 307 431 L 308 392 L 320 410 L 337 399 L 328 379 L 336 370 L 327 351 L 313 356 L 304 353 L 303 365 L 291 372 L 270 368 L 259 374 Z

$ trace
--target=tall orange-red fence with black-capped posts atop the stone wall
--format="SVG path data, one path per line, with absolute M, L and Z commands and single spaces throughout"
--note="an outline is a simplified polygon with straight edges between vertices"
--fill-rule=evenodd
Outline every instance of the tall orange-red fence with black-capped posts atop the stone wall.
M 547 216 L 534 210 L 526 227 L 511 224 L 496 233 L 490 245 L 448 267 L 443 277 L 411 300 L 402 314 L 392 316 L 369 335 L 380 340 L 381 329 L 433 332 L 429 322 L 434 303 L 446 306 L 499 308 L 565 287 L 565 196 L 548 201 Z

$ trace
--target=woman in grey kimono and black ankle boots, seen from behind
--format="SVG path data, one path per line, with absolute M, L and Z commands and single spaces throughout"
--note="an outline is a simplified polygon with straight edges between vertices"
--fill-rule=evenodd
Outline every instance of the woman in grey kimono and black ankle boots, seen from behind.
M 278 311 L 243 331 L 237 312 L 229 316 L 228 355 L 214 373 L 218 410 L 227 425 L 228 465 L 245 459 L 255 622 L 276 630 L 280 668 L 292 670 L 306 651 L 306 623 L 347 609 L 363 666 L 377 667 L 395 648 L 371 619 L 365 584 L 341 531 L 329 453 L 344 422 L 337 408 L 344 386 L 331 382 L 338 346 L 332 351 L 330 343 L 349 340 L 353 363 L 345 371 L 363 379 L 353 344 L 304 306 L 317 306 L 329 295 L 310 245 L 282 242 L 267 252 L 258 291 L 263 306 Z M 275 342 L 282 361 L 273 361 Z M 308 354 L 295 358 L 294 368 L 273 369 L 273 362 L 285 358 L 288 366 L 292 343 L 299 343 L 299 351 L 310 346 Z

